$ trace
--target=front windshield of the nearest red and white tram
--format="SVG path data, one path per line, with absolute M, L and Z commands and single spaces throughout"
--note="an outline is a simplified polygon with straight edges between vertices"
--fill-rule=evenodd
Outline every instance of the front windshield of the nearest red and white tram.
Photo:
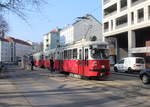
M 108 51 L 106 49 L 92 49 L 91 57 L 94 59 L 108 59 Z

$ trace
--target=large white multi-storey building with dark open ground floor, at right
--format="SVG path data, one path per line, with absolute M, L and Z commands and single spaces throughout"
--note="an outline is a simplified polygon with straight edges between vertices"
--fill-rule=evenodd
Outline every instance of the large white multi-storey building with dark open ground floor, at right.
M 103 0 L 103 17 L 111 56 L 142 56 L 150 63 L 150 0 Z

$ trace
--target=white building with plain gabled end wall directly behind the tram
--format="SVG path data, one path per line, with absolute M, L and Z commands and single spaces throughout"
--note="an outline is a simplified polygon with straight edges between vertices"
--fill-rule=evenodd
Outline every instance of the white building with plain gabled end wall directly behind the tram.
M 60 31 L 61 45 L 73 43 L 85 39 L 89 40 L 103 40 L 102 24 L 92 15 L 85 15 L 79 17 L 72 25 L 68 25 Z

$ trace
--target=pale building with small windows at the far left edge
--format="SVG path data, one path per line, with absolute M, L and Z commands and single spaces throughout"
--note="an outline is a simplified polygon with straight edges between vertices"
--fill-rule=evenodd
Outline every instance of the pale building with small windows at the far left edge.
M 0 38 L 0 62 L 11 61 L 11 44 L 8 40 Z

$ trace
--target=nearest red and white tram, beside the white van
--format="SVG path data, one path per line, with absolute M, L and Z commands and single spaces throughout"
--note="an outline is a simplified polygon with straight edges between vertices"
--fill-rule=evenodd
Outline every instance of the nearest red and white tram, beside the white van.
M 55 70 L 85 77 L 106 77 L 110 75 L 107 44 L 102 42 L 78 42 L 44 54 L 44 66 L 50 68 L 54 59 Z

